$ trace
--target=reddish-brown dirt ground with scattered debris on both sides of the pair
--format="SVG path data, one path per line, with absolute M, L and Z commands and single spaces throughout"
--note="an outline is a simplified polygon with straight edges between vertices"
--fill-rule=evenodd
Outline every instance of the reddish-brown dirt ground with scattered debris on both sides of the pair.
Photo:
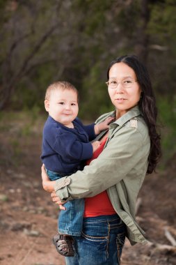
M 58 208 L 40 181 L 41 131 L 42 122 L 31 128 L 21 119 L 0 122 L 1 265 L 65 264 L 51 242 Z M 154 245 L 131 247 L 126 241 L 122 265 L 176 264 L 176 249 L 166 237 L 170 232 L 176 239 L 175 172 L 176 156 L 164 172 L 146 177 L 139 194 L 137 220 Z

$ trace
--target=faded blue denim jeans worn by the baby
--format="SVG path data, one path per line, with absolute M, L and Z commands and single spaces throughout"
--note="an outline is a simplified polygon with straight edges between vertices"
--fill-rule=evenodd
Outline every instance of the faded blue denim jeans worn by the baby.
M 64 174 L 51 172 L 46 169 L 51 181 L 61 179 Z M 68 176 L 69 174 L 65 174 Z M 68 234 L 70 236 L 81 236 L 83 226 L 84 199 L 74 199 L 64 204 L 66 210 L 61 211 L 58 216 L 58 232 L 60 234 Z

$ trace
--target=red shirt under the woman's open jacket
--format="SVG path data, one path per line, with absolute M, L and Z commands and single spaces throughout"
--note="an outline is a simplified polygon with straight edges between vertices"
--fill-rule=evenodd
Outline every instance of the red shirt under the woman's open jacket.
M 97 158 L 104 149 L 107 137 L 101 142 L 99 148 L 93 153 L 93 157 L 87 160 L 86 165 L 89 165 L 92 160 Z M 108 176 L 107 176 L 108 177 Z M 96 178 L 96 176 L 95 176 Z M 112 215 L 116 212 L 113 209 L 109 196 L 104 190 L 94 197 L 85 198 L 85 209 L 83 217 L 94 217 L 99 215 Z

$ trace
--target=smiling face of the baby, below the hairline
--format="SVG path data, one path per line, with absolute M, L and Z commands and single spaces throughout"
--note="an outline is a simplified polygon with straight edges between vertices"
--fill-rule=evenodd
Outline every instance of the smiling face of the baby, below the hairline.
M 67 127 L 72 125 L 72 121 L 77 117 L 79 111 L 75 91 L 58 89 L 52 91 L 49 100 L 45 101 L 45 108 L 55 121 Z

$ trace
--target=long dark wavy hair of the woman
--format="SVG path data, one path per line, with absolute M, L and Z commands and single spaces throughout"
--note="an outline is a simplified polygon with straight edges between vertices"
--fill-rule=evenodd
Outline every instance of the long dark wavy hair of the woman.
M 109 70 L 114 63 L 126 63 L 127 66 L 132 68 L 136 74 L 138 84 L 141 87 L 142 93 L 138 106 L 141 109 L 145 123 L 147 124 L 150 135 L 150 154 L 148 157 L 147 173 L 151 174 L 157 167 L 159 158 L 161 157 L 161 137 L 157 132 L 157 105 L 152 89 L 150 76 L 147 68 L 139 61 L 135 55 L 120 56 L 113 60 L 107 71 L 107 78 L 109 80 Z

